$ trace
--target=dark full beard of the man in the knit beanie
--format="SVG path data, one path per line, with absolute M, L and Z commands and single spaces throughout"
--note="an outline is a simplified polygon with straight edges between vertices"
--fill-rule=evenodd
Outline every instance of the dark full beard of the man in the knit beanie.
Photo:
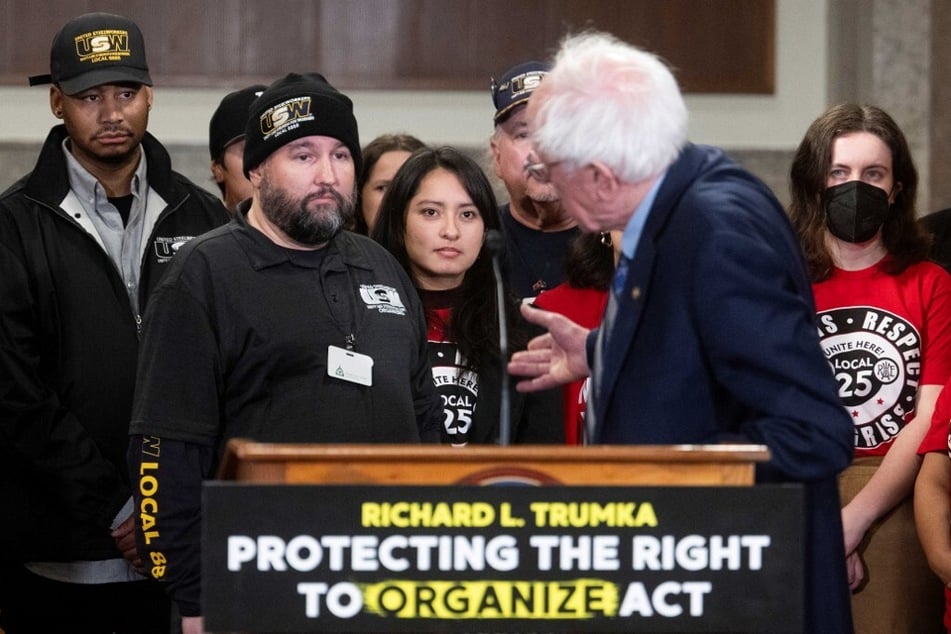
M 265 176 L 259 190 L 261 210 L 277 228 L 300 244 L 324 244 L 353 217 L 354 193 L 344 197 L 335 189 L 322 187 L 312 194 L 294 198 L 286 190 L 271 185 Z M 313 204 L 330 196 L 330 204 Z

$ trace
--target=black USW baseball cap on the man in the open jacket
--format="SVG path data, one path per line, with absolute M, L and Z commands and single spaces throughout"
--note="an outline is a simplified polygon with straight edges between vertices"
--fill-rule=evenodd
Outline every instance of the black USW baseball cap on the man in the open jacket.
M 132 20 L 112 13 L 73 18 L 53 38 L 50 74 L 30 77 L 30 85 L 53 83 L 67 95 L 102 84 L 152 85 L 145 39 Z

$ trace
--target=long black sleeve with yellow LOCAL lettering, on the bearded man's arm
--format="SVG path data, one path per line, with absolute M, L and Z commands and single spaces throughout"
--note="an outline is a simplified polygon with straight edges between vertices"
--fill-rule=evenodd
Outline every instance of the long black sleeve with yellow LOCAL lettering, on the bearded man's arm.
M 201 484 L 214 448 L 132 436 L 128 451 L 136 546 L 147 574 L 167 583 L 182 616 L 201 614 Z

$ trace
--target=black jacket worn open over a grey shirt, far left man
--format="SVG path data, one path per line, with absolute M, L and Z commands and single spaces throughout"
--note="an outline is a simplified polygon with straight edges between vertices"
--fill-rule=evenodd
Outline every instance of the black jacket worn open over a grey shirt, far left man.
M 0 195 L 0 559 L 118 557 L 108 527 L 130 495 L 140 319 L 108 255 L 62 206 L 65 137 L 54 127 L 34 170 Z M 177 247 L 228 214 L 172 171 L 154 137 L 142 147 L 166 203 L 142 261 L 144 310 Z

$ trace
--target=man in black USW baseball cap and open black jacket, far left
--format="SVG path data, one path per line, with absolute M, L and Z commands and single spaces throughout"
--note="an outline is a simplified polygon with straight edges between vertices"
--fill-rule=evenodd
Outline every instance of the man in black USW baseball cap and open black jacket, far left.
M 30 83 L 62 125 L 0 195 L 0 630 L 167 634 L 125 459 L 139 332 L 178 248 L 228 215 L 146 131 L 134 22 L 70 20 Z

